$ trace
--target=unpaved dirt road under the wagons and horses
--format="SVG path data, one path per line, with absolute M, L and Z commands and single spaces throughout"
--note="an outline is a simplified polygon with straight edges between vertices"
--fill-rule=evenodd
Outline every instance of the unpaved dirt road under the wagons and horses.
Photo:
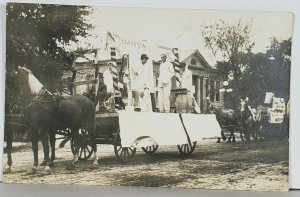
M 56 150 L 57 160 L 50 175 L 31 175 L 33 155 L 30 144 L 13 153 L 12 173 L 4 174 L 5 183 L 87 184 L 151 187 L 182 187 L 232 190 L 282 191 L 288 188 L 288 140 L 216 143 L 199 141 L 189 157 L 176 146 L 161 146 L 153 155 L 137 150 L 132 163 L 120 164 L 113 146 L 98 145 L 99 166 L 92 160 L 79 162 L 66 170 L 72 159 L 70 146 Z M 6 162 L 6 154 L 3 164 Z M 40 161 L 43 158 L 39 151 Z

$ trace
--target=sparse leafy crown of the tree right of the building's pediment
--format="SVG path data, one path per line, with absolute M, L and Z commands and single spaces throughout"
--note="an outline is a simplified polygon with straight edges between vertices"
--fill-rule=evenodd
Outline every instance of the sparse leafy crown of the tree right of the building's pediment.
M 205 46 L 216 57 L 222 58 L 219 67 L 224 67 L 223 71 L 233 71 L 234 75 L 237 75 L 243 66 L 243 54 L 250 52 L 254 46 L 250 33 L 249 24 L 243 25 L 239 22 L 237 25 L 229 25 L 220 20 L 214 25 L 205 26 L 202 35 Z

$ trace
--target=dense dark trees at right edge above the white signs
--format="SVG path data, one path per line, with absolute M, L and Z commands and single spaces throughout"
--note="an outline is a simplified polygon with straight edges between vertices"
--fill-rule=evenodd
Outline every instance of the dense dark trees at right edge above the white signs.
M 264 101 L 266 92 L 289 99 L 291 39 L 271 39 L 266 53 L 250 54 L 239 82 L 240 92 L 256 103 Z

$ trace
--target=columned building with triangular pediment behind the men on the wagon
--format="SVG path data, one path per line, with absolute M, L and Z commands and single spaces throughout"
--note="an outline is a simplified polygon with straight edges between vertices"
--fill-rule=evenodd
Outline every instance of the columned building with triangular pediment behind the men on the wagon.
M 130 55 L 129 55 L 130 56 Z M 103 73 L 107 69 L 107 63 L 110 60 L 99 60 L 96 62 L 88 61 L 75 63 L 72 69 L 64 71 L 63 81 L 67 83 L 64 92 L 69 94 L 82 93 L 85 89 L 91 89 L 91 81 L 93 81 L 96 73 Z M 169 61 L 172 61 L 171 59 Z M 201 53 L 195 50 L 183 51 L 180 54 L 180 61 L 187 65 L 187 68 L 192 72 L 193 86 L 195 87 L 194 97 L 200 107 L 202 113 L 207 113 L 209 106 L 221 107 L 224 105 L 224 93 L 220 93 L 222 88 L 223 76 L 218 74 L 216 69 L 212 68 Z M 159 76 L 160 61 L 152 61 L 154 68 L 154 79 Z M 124 72 L 122 68 L 123 60 L 117 59 L 118 72 Z M 89 71 L 89 72 L 88 72 Z M 76 74 L 74 75 L 74 72 Z M 95 73 L 96 72 L 96 73 Z M 94 77 L 93 77 L 94 76 Z M 122 76 L 122 74 L 120 74 Z M 175 78 L 173 79 L 175 84 Z M 71 87 L 71 88 L 70 88 Z M 82 88 L 80 88 L 82 87 Z M 175 86 L 173 85 L 173 89 Z M 65 94 L 67 95 L 67 94 Z M 127 95 L 127 94 L 126 94 Z

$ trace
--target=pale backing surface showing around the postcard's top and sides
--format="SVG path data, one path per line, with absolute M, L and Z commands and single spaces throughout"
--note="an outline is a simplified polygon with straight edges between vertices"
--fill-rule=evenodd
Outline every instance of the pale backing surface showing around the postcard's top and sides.
M 13 2 L 0 0 L 0 89 L 4 95 L 4 65 L 5 65 L 5 3 Z M 299 0 L 19 0 L 18 2 L 30 3 L 57 3 L 57 4 L 81 4 L 81 5 L 103 5 L 123 7 L 160 7 L 160 8 L 190 8 L 190 9 L 220 9 L 220 10 L 257 10 L 257 11 L 288 11 L 295 14 L 294 37 L 292 46 L 292 73 L 291 73 L 291 128 L 290 128 L 290 188 L 300 189 L 300 90 L 297 84 L 300 83 L 300 1 Z M 0 97 L 0 103 L 4 106 L 4 96 Z M 3 150 L 3 112 L 0 111 L 0 150 Z M 298 153 L 299 154 L 299 153 Z M 0 151 L 2 158 L 2 151 Z M 0 163 L 0 175 L 2 174 L 2 162 Z M 297 176 L 298 175 L 298 176 Z

